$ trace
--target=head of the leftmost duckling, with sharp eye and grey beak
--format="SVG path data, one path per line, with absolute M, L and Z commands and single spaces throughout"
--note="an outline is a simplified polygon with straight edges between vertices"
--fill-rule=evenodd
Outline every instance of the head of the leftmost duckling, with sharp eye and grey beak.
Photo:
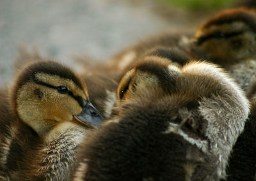
M 81 120 L 89 126 L 102 119 L 89 102 L 86 85 L 70 69 L 53 61 L 33 62 L 22 69 L 10 98 L 19 119 L 39 135 L 59 122 Z

